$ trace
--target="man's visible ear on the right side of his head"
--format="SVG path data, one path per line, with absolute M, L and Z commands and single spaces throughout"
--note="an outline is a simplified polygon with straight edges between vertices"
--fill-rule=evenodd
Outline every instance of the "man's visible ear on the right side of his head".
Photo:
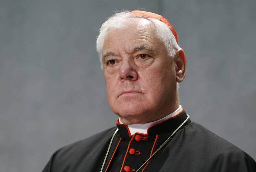
M 186 76 L 186 65 L 187 65 L 187 58 L 182 49 L 176 51 L 174 56 L 174 63 L 175 63 L 175 71 L 176 71 L 176 81 L 182 82 Z

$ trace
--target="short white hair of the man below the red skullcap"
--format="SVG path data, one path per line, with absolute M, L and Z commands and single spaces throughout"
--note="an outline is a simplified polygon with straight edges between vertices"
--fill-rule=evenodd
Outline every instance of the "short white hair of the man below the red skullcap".
M 104 22 L 99 30 L 99 36 L 97 37 L 96 48 L 99 53 L 99 59 L 102 69 L 102 49 L 105 38 L 107 36 L 107 32 L 109 29 L 123 29 L 129 24 L 129 20 L 132 17 L 139 17 L 145 18 L 151 21 L 156 27 L 156 34 L 158 38 L 164 43 L 166 49 L 168 51 L 168 55 L 170 57 L 174 57 L 177 50 L 180 49 L 178 43 L 176 42 L 175 36 L 173 35 L 172 31 L 170 30 L 169 26 L 165 23 L 159 21 L 156 18 L 149 18 L 149 17 L 141 17 L 138 15 L 131 14 L 130 11 L 122 11 L 119 13 L 115 13 L 110 16 L 106 22 Z

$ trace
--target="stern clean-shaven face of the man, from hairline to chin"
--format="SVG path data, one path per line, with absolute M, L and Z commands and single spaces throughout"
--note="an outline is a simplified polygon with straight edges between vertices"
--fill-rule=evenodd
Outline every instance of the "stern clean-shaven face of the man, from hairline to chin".
M 102 55 L 108 102 L 123 123 L 146 123 L 173 111 L 175 63 L 150 21 L 132 18 L 128 27 L 110 29 Z

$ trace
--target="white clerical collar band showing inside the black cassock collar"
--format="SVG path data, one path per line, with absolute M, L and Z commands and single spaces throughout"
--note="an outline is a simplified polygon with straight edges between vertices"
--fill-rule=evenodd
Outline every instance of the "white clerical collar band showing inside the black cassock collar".
M 166 120 L 166 119 L 168 119 L 168 118 L 171 118 L 172 116 L 178 114 L 181 110 L 182 110 L 182 107 L 181 107 L 181 105 L 180 105 L 179 108 L 176 109 L 173 113 L 171 113 L 170 115 L 167 115 L 167 116 L 165 116 L 165 117 L 163 117 L 163 118 L 161 118 L 161 119 L 159 119 L 159 120 L 157 120 L 157 121 L 153 121 L 153 122 L 149 122 L 149 123 L 145 123 L 145 124 L 131 124 L 131 125 L 127 125 L 127 126 L 128 126 L 128 128 L 129 128 L 129 130 L 130 130 L 131 135 L 133 135 L 134 133 L 143 133 L 143 134 L 147 134 L 147 130 L 148 130 L 148 128 L 149 128 L 151 125 L 153 125 L 153 124 L 155 124 L 155 123 L 157 123 L 157 122 L 161 122 L 161 121 L 163 121 L 163 120 Z M 119 123 L 120 123 L 120 124 L 123 124 L 123 123 L 121 122 L 120 118 L 119 118 Z

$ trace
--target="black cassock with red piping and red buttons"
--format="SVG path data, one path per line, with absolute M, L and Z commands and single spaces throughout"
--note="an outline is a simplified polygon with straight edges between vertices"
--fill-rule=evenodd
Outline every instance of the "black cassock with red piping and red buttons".
M 136 171 L 186 120 L 185 111 L 131 135 L 117 124 L 104 172 Z M 117 127 L 57 150 L 43 172 L 100 172 Z M 256 172 L 244 151 L 189 119 L 140 172 Z

